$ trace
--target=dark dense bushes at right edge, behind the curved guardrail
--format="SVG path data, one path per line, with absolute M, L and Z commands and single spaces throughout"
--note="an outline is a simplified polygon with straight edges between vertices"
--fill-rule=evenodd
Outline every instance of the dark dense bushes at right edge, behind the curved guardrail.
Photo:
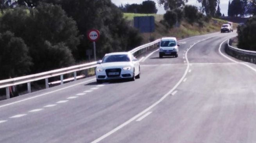
M 238 26 L 238 47 L 256 51 L 256 16 L 251 17 L 244 25 Z

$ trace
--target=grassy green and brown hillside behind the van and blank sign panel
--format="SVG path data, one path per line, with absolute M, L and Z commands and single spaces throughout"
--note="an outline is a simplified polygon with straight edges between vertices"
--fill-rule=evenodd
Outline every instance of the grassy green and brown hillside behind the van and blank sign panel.
M 186 38 L 186 37 L 192 37 L 196 35 L 203 35 L 207 33 L 213 33 L 220 31 L 220 27 L 222 24 L 227 23 L 227 21 L 224 21 L 222 19 L 215 19 L 212 18 L 209 23 L 204 23 L 204 27 L 199 27 L 197 23 L 194 23 L 193 25 L 187 23 L 185 20 L 181 22 L 179 27 L 175 27 L 172 29 L 166 28 L 163 24 L 160 23 L 161 20 L 163 20 L 163 15 L 159 14 L 130 14 L 130 13 L 124 13 L 124 17 L 127 20 L 133 19 L 134 16 L 155 16 L 155 32 L 154 33 L 142 33 L 142 36 L 144 38 L 144 42 L 149 42 L 150 35 L 154 39 L 158 39 L 161 37 L 177 37 L 177 39 Z M 236 29 L 238 24 L 234 23 L 233 27 Z

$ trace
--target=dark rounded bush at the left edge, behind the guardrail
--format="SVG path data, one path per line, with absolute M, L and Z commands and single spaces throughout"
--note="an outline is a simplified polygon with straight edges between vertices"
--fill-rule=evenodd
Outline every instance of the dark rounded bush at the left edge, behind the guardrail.
M 14 33 L 0 33 L 0 79 L 18 77 L 30 72 L 29 48 Z

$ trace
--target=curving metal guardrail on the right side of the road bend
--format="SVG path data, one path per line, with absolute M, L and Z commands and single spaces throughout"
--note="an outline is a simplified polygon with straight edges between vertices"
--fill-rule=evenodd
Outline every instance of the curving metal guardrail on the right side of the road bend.
M 256 64 L 256 51 L 238 49 L 236 47 L 231 46 L 230 43 L 231 43 L 231 40 L 229 39 L 227 42 L 227 47 L 225 49 L 227 54 L 237 59 L 241 59 L 243 61 Z

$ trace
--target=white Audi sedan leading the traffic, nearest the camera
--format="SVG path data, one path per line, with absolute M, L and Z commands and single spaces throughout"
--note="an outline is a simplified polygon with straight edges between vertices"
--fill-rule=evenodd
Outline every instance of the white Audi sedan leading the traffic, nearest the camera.
M 97 83 L 119 78 L 131 80 L 140 78 L 140 63 L 129 52 L 105 54 L 97 63 L 100 64 L 96 68 Z

